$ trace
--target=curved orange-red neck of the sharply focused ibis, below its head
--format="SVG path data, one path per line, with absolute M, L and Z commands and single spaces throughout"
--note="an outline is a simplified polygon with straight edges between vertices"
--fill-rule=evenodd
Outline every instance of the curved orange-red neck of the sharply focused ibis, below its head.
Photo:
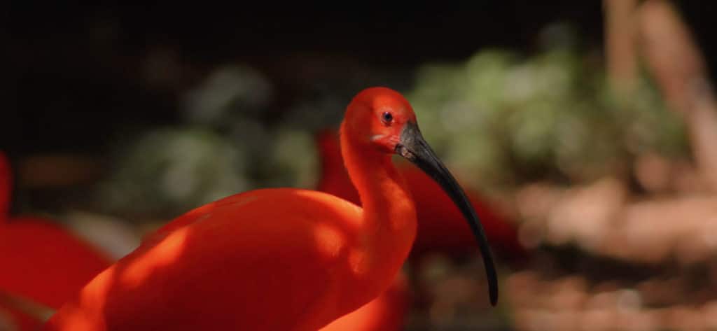
M 341 153 L 359 192 L 363 216 L 361 238 L 371 256 L 371 278 L 386 286 L 407 258 L 416 236 L 416 209 L 391 155 L 353 143 L 341 135 Z

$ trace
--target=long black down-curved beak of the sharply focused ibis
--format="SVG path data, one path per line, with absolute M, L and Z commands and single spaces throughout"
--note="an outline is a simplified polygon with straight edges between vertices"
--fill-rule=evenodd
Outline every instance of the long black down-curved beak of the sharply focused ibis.
M 490 252 L 490 246 L 488 246 L 488 239 L 485 237 L 483 226 L 480 225 L 478 215 L 475 214 L 475 210 L 465 196 L 465 192 L 463 192 L 450 171 L 448 171 L 428 143 L 426 143 L 426 140 L 423 139 L 423 135 L 421 135 L 417 123 L 406 123 L 406 125 L 404 125 L 400 141 L 398 145 L 396 145 L 396 153 L 411 161 L 424 171 L 424 173 L 431 176 L 460 209 L 470 229 L 473 230 L 475 239 L 478 241 L 480 254 L 483 255 L 485 272 L 488 275 L 490 304 L 495 306 L 498 302 L 498 277 L 495 274 L 493 254 Z

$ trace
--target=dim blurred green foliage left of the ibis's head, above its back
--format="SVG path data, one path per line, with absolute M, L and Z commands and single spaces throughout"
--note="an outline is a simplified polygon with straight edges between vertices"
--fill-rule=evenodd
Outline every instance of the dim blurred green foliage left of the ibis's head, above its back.
M 137 130 L 136 139 L 118 142 L 100 205 L 130 218 L 171 217 L 255 188 L 313 188 L 313 138 L 267 123 L 272 94 L 254 70 L 219 67 L 185 95 L 185 124 Z

